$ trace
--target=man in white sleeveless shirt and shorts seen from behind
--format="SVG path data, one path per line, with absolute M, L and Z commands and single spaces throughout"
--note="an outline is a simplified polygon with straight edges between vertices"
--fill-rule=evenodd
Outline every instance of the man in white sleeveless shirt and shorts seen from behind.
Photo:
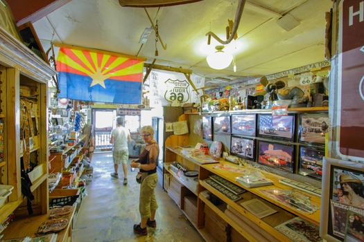
M 112 156 L 114 160 L 114 170 L 115 172 L 110 174 L 113 178 L 119 178 L 118 169 L 119 164 L 123 164 L 124 171 L 124 181 L 123 185 L 128 184 L 128 142 L 132 142 L 130 137 L 129 129 L 123 127 L 123 118 L 116 118 L 116 129 L 112 129 L 110 144 L 114 144 L 112 148 Z

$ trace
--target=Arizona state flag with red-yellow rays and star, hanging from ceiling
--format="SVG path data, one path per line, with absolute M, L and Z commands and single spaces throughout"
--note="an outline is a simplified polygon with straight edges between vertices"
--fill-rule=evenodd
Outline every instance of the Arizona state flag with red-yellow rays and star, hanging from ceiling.
M 141 103 L 144 62 L 60 48 L 57 57 L 60 94 L 72 100 L 92 102 Z

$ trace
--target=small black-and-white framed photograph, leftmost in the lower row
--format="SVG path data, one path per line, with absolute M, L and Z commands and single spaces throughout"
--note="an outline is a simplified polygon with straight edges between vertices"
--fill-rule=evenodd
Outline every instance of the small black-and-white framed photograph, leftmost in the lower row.
M 232 136 L 230 153 L 247 160 L 254 160 L 254 141 L 253 139 Z

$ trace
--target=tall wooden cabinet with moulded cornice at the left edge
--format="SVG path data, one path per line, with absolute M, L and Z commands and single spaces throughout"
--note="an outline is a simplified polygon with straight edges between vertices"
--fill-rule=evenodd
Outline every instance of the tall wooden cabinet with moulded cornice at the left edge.
M 4 221 L 15 210 L 21 213 L 26 207 L 26 201 L 21 194 L 21 160 L 25 152 L 21 149 L 20 140 L 21 86 L 30 87 L 35 95 L 32 97 L 35 105 L 29 117 L 34 124 L 35 135 L 29 149 L 31 162 L 35 164 L 31 174 L 31 191 L 35 196 L 32 207 L 34 214 L 47 214 L 49 211 L 47 93 L 48 81 L 56 72 L 3 28 L 0 28 L 0 43 L 0 121 L 4 126 L 0 183 L 14 187 L 8 201 L 0 207 L 0 221 Z M 26 210 L 24 211 L 26 214 Z M 9 236 L 6 229 L 4 238 Z

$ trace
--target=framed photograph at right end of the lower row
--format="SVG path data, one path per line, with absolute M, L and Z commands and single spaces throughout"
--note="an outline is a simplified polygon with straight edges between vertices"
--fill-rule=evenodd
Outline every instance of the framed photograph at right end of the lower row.
M 300 146 L 298 174 L 321 180 L 323 157 L 324 149 Z

